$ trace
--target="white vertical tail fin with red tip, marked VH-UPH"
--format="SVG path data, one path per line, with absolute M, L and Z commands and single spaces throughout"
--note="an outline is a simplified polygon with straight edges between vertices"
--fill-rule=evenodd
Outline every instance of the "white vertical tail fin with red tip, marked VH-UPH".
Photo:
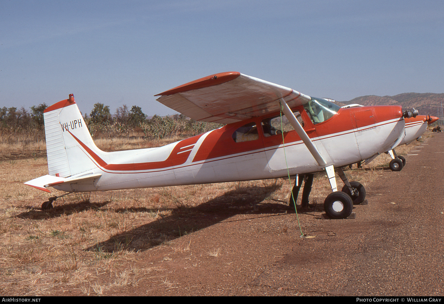
M 103 166 L 107 152 L 97 148 L 74 95 L 44 111 L 49 175 L 68 177 Z

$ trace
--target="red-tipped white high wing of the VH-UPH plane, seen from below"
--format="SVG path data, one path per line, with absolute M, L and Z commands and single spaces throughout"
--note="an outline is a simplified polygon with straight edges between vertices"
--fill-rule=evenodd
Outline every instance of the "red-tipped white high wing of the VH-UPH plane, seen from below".
M 279 100 L 290 108 L 310 96 L 239 72 L 213 74 L 162 92 L 157 100 L 194 120 L 230 124 L 279 111 Z

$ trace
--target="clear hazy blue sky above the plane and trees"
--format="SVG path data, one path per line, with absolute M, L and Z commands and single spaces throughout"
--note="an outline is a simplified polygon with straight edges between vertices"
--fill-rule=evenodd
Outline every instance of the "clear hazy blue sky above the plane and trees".
M 444 92 L 442 0 L 0 0 L 0 107 L 175 112 L 155 94 L 237 71 L 339 101 Z

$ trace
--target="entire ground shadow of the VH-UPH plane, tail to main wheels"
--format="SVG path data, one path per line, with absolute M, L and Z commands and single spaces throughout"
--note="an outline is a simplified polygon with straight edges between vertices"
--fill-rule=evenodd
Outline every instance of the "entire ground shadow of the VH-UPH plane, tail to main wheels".
M 184 236 L 191 232 L 217 224 L 227 218 L 239 214 L 257 214 L 266 216 L 277 216 L 292 212 L 288 203 L 282 200 L 270 199 L 270 194 L 275 192 L 281 185 L 243 187 L 224 193 L 205 203 L 197 206 L 177 204 L 176 208 L 119 208 L 114 212 L 158 212 L 157 219 L 151 223 L 141 225 L 126 232 L 115 234 L 108 240 L 95 244 L 86 250 L 100 252 L 116 252 L 121 250 L 144 251 L 168 241 Z M 46 220 L 61 215 L 70 215 L 86 210 L 99 210 L 111 203 L 94 203 L 89 201 L 56 205 L 48 211 L 40 208 L 28 207 L 29 211 L 16 215 L 17 218 Z M 313 205 L 312 205 L 313 207 Z M 321 204 L 315 204 L 313 208 L 306 210 L 297 206 L 298 213 L 311 212 L 322 208 Z M 161 211 L 171 210 L 171 214 L 163 216 Z M 160 212 L 159 212 L 160 211 Z M 294 212 L 294 211 L 293 211 Z

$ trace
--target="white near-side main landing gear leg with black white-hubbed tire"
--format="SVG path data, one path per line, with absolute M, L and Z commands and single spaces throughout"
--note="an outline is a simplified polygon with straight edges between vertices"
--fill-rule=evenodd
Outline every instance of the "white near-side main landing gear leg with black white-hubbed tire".
M 353 201 L 351 197 L 345 192 L 337 191 L 336 177 L 333 165 L 325 167 L 325 172 L 327 172 L 327 176 L 329 178 L 329 182 L 333 191 L 325 198 L 325 213 L 330 218 L 345 219 L 349 217 L 350 214 L 352 214 Z

